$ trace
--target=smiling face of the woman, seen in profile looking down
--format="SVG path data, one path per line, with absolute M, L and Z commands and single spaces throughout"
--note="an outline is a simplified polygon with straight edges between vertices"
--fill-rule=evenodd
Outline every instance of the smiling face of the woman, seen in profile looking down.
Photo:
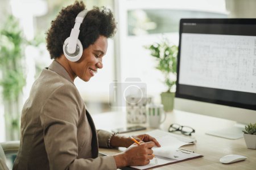
M 88 82 L 98 69 L 102 69 L 102 57 L 105 56 L 107 49 L 108 39 L 104 36 L 98 37 L 94 44 L 84 49 L 79 61 L 69 62 L 73 75 Z

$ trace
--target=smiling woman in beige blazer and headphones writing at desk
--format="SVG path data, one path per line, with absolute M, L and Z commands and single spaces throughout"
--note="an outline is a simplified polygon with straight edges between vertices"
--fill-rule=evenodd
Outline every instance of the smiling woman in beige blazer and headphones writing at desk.
M 20 148 L 13 169 L 117 169 L 146 165 L 154 157 L 151 148 L 160 146 L 147 134 L 135 136 L 144 141 L 137 145 L 127 137 L 96 131 L 73 82 L 77 76 L 88 82 L 102 69 L 108 38 L 114 35 L 116 25 L 110 10 L 84 9 L 84 3 L 77 1 L 63 8 L 47 32 L 47 49 L 54 60 L 43 69 L 24 104 Z M 128 148 L 117 155 L 97 157 L 99 146 Z

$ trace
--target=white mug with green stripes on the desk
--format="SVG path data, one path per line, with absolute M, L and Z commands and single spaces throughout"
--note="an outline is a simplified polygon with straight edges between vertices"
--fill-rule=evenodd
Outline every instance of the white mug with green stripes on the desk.
M 162 104 L 150 104 L 147 106 L 148 126 L 150 128 L 159 128 L 166 120 L 166 113 L 164 112 Z

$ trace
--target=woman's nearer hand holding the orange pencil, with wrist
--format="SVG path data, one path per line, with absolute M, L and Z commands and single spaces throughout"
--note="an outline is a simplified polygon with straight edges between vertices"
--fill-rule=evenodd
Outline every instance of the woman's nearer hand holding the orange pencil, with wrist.
M 134 143 L 128 147 L 125 152 L 114 155 L 115 164 L 117 168 L 126 167 L 128 165 L 146 165 L 154 158 L 152 147 L 155 146 L 154 142 L 140 142 L 141 145 Z

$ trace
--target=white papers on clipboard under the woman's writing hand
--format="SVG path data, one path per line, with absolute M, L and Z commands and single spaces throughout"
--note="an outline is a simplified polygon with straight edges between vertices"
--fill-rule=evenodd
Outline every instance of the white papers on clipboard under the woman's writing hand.
M 156 138 L 161 147 L 152 148 L 155 158 L 150 160 L 149 164 L 144 166 L 133 166 L 135 169 L 150 169 L 202 157 L 202 155 L 179 149 L 181 146 L 195 143 L 195 139 L 180 136 L 177 137 L 177 135 L 162 130 L 148 131 L 147 134 Z

